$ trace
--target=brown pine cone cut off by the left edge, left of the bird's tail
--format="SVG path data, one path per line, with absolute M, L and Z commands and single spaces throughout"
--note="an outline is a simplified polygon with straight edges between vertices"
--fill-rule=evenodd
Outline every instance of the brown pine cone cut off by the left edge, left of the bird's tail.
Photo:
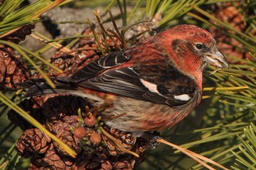
M 31 78 L 30 70 L 12 48 L 0 45 L 0 58 L 0 89 L 16 88 L 15 83 L 22 83 Z

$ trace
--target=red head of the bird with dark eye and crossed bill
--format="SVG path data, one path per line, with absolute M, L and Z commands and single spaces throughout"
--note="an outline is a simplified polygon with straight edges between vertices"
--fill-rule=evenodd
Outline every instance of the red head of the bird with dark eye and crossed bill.
M 212 35 L 195 25 L 177 25 L 156 36 L 157 43 L 170 55 L 175 66 L 190 76 L 204 70 L 207 64 L 228 67 Z

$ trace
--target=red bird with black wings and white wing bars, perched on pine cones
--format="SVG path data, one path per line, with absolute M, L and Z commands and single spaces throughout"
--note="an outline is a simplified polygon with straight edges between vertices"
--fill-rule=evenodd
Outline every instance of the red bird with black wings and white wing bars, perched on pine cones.
M 134 46 L 93 60 L 72 76 L 27 82 L 26 96 L 60 93 L 85 97 L 121 131 L 161 131 L 187 117 L 202 98 L 207 64 L 228 67 L 211 33 L 196 25 L 176 25 Z

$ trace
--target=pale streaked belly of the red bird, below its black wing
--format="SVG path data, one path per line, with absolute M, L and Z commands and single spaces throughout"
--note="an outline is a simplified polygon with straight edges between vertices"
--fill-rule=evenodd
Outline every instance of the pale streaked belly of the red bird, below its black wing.
M 122 131 L 159 131 L 180 122 L 188 113 L 180 113 L 164 104 L 116 97 L 113 106 L 102 113 L 102 119 L 110 127 Z

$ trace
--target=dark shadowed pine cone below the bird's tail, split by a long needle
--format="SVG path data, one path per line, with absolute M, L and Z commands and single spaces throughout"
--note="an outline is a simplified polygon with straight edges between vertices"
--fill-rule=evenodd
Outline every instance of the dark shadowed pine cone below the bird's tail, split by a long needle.
M 21 101 L 18 104 L 18 106 L 22 108 L 24 111 L 26 111 L 33 118 L 38 120 L 39 122 L 41 123 L 45 122 L 45 118 L 42 115 L 42 109 L 34 99 L 32 98 L 25 99 L 24 101 Z M 12 122 L 12 124 L 19 126 L 20 129 L 22 130 L 30 129 L 31 127 L 33 127 L 14 110 L 8 111 L 7 115 L 8 115 L 8 119 Z

